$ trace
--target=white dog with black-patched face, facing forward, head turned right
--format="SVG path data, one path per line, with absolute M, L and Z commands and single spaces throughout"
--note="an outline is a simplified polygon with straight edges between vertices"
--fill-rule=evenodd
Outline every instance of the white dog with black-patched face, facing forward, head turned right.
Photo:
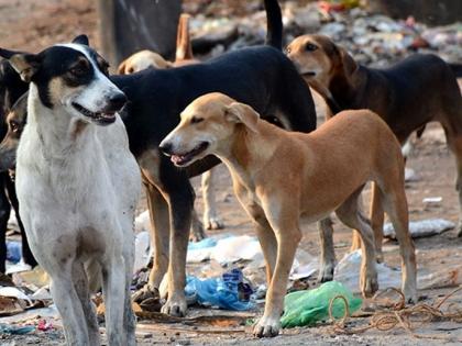
M 130 282 L 141 178 L 117 113 L 127 98 L 84 35 L 36 55 L 0 55 L 31 82 L 16 190 L 32 252 L 52 279 L 66 342 L 100 344 L 90 290 L 102 278 L 108 343 L 134 345 Z

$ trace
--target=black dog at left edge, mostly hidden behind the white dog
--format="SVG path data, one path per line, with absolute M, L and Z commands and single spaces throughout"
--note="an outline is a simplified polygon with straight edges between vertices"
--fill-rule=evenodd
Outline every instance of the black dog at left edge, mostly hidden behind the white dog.
M 23 82 L 18 72 L 11 67 L 7 60 L 0 62 L 0 138 L 3 138 L 8 131 L 8 123 L 6 118 L 8 113 L 14 108 L 13 103 L 24 92 L 28 91 L 28 83 Z M 26 108 L 25 101 L 21 102 L 20 108 Z M 15 154 L 15 153 L 13 153 Z M 13 155 L 14 158 L 14 155 Z M 4 159 L 3 153 L 0 150 L 0 161 Z M 21 217 L 19 216 L 19 204 L 16 192 L 14 189 L 14 181 L 8 174 L 9 168 L 12 166 L 4 167 L 0 164 L 0 272 L 6 271 L 7 260 L 7 224 L 10 217 L 11 207 L 13 207 L 18 219 L 18 225 L 20 227 L 22 237 L 22 257 L 24 263 L 35 267 L 36 261 L 34 256 L 29 248 L 28 238 L 25 236 L 24 226 Z

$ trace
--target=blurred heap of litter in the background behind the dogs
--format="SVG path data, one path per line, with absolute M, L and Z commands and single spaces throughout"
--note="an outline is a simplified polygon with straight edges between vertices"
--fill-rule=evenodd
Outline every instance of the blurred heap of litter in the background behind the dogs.
M 387 66 L 416 52 L 435 53 L 449 63 L 462 63 L 462 22 L 428 27 L 413 16 L 394 20 L 371 14 L 366 7 L 360 7 L 360 1 L 338 2 L 340 4 L 282 2 L 286 42 L 301 34 L 324 34 L 345 47 L 359 63 L 371 67 Z M 194 51 L 216 56 L 224 51 L 262 44 L 266 18 L 260 1 L 248 1 L 241 7 L 243 9 L 232 15 L 212 4 L 187 8 L 194 14 Z

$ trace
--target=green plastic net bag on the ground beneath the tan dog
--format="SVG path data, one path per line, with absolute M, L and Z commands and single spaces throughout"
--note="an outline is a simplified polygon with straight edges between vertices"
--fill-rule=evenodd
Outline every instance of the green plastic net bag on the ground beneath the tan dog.
M 326 321 L 329 317 L 329 303 L 336 295 L 343 295 L 346 299 L 350 313 L 360 309 L 363 302 L 360 298 L 353 297 L 353 293 L 338 281 L 322 283 L 309 291 L 293 292 L 284 299 L 284 315 L 280 317 L 283 328 L 314 325 Z M 340 319 L 343 314 L 344 302 L 337 299 L 332 305 L 332 315 Z

